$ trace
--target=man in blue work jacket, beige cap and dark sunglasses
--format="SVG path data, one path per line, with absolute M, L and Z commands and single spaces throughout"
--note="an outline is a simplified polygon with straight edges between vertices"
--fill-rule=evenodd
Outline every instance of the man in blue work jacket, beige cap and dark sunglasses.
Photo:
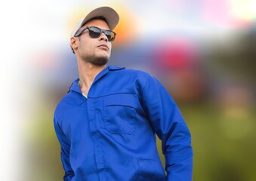
M 79 78 L 54 113 L 63 179 L 190 181 L 190 131 L 174 100 L 148 73 L 106 66 L 118 22 L 116 11 L 101 7 L 72 31 Z

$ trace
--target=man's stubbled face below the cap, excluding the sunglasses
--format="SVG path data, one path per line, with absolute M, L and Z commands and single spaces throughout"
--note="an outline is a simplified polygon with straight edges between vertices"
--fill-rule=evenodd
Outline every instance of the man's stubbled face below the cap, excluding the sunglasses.
M 96 26 L 100 29 L 109 29 L 107 23 L 103 20 L 91 20 L 82 26 Z M 76 37 L 77 51 L 76 55 L 83 61 L 92 63 L 96 66 L 103 66 L 109 61 L 111 52 L 111 42 L 107 40 L 104 33 L 99 38 L 91 38 L 89 30 L 86 29 L 79 37 Z

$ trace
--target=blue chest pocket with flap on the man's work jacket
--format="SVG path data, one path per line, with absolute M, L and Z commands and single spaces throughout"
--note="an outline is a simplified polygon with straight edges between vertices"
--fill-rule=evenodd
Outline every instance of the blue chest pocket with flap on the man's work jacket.
M 104 126 L 110 133 L 131 134 L 136 127 L 136 94 L 113 94 L 104 97 Z

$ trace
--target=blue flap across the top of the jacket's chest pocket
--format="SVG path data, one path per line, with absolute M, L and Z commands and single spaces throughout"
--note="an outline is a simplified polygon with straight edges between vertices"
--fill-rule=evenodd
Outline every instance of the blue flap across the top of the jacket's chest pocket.
M 113 94 L 104 97 L 104 106 L 129 106 L 136 108 L 136 94 Z

